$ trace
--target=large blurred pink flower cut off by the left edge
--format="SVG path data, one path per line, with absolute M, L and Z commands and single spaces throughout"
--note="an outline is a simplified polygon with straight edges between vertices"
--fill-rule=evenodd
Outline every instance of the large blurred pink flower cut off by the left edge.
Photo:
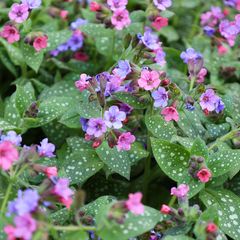
M 9 170 L 18 157 L 18 151 L 11 142 L 0 143 L 0 168 Z

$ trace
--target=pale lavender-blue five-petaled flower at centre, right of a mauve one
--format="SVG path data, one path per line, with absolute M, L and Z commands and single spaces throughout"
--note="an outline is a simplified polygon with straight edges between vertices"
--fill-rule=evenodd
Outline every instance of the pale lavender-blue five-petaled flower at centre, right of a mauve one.
M 122 121 L 126 119 L 126 113 L 119 110 L 117 106 L 111 106 L 104 113 L 105 124 L 109 128 L 119 129 L 122 127 Z

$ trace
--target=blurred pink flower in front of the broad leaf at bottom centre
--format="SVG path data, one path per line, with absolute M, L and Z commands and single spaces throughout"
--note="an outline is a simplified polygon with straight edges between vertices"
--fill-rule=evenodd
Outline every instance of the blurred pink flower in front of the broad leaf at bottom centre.
M 128 200 L 126 201 L 127 209 L 135 215 L 140 215 L 144 213 L 144 205 L 141 203 L 142 193 L 130 193 L 128 195 Z

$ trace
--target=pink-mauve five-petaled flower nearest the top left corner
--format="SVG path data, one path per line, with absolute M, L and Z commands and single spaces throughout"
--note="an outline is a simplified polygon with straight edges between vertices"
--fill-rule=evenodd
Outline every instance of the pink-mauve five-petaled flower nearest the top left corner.
M 8 13 L 10 20 L 16 23 L 24 22 L 28 18 L 28 15 L 28 5 L 18 3 L 14 3 L 11 7 L 10 12 Z

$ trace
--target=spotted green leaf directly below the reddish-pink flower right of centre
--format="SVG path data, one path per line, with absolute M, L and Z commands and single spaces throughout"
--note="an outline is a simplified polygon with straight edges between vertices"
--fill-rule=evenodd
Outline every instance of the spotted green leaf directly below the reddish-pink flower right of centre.
M 170 140 L 173 135 L 176 135 L 176 129 L 173 126 L 172 122 L 166 122 L 158 115 L 146 115 L 145 124 L 148 130 L 153 134 L 156 138 L 161 138 L 165 140 Z

